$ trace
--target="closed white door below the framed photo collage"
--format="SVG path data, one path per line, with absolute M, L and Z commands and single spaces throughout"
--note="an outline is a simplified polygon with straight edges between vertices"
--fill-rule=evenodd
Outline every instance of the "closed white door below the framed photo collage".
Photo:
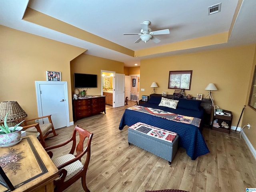
M 55 129 L 69 126 L 67 89 L 67 82 L 36 82 L 38 116 L 51 114 Z

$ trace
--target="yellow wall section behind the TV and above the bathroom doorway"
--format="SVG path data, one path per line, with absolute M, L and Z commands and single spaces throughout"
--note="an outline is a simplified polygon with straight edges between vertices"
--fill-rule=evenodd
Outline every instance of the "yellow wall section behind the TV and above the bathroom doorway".
M 100 95 L 101 70 L 114 71 L 116 73 L 123 74 L 124 63 L 87 54 L 81 54 L 80 56 L 72 60 L 70 62 L 72 92 L 74 92 L 74 73 L 96 74 L 98 75 L 98 86 L 97 88 L 88 88 L 86 95 Z

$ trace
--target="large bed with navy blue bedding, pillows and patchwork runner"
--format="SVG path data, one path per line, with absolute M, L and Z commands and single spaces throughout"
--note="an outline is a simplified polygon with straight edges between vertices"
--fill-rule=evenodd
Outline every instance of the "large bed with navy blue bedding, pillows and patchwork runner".
M 176 98 L 176 109 L 159 106 L 162 97 L 150 96 L 147 103 L 131 107 L 124 111 L 119 129 L 131 126 L 137 122 L 146 123 L 158 128 L 176 132 L 179 135 L 179 146 L 186 149 L 192 160 L 207 154 L 208 147 L 201 134 L 204 118 L 204 109 L 198 100 Z M 163 113 L 159 115 L 159 113 Z M 166 114 L 171 118 L 166 118 Z M 170 115 L 169 115 L 170 114 Z M 175 116 L 176 115 L 176 116 Z M 182 118 L 180 118 L 182 116 Z M 177 119 L 182 119 L 178 121 Z M 191 122 L 188 122 L 190 119 Z M 194 121 L 194 123 L 192 123 Z

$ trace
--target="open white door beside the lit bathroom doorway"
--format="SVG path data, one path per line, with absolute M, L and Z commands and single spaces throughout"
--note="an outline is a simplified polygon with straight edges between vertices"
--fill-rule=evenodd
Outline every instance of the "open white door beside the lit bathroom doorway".
M 124 106 L 124 74 L 114 75 L 113 107 Z

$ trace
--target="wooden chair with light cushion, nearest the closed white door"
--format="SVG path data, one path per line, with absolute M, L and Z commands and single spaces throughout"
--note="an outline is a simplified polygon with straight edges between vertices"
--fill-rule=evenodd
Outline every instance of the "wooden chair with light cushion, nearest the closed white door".
M 31 125 L 28 125 L 28 123 L 27 123 L 27 122 L 30 122 L 30 121 L 34 121 L 36 119 L 43 119 L 43 118 L 48 118 L 48 122 L 43 123 L 43 124 L 34 123 L 34 124 L 31 124 Z M 30 120 L 25 120 L 23 123 L 25 125 L 25 126 L 22 126 L 23 130 L 39 132 L 39 139 L 40 139 L 40 142 L 41 142 L 41 144 L 44 148 L 48 147 L 45 143 L 46 138 L 52 138 L 52 137 L 55 137 L 55 136 L 58 135 L 55 132 L 55 129 L 54 129 L 54 126 L 53 126 L 53 123 L 52 123 L 52 119 L 51 119 L 51 115 L 46 115 L 46 116 L 42 116 L 42 117 L 30 119 Z M 48 135 L 51 134 L 51 133 L 53 133 L 53 136 L 48 137 Z

